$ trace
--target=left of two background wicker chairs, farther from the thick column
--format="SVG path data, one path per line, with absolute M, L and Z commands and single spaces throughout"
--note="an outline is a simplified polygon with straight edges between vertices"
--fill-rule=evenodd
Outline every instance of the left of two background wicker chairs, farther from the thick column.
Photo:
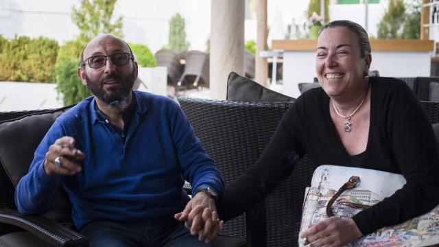
M 167 67 L 167 84 L 176 86 L 178 79 L 183 72 L 180 58 L 174 51 L 161 49 L 156 52 L 157 66 Z

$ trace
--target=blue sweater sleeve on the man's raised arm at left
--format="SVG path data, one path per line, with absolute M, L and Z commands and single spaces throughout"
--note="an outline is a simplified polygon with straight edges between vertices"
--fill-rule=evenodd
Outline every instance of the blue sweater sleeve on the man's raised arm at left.
M 45 154 L 56 139 L 64 136 L 62 126 L 55 121 L 35 151 L 29 172 L 21 178 L 15 191 L 15 204 L 20 213 L 43 214 L 49 211 L 63 176 L 49 176 L 44 170 Z

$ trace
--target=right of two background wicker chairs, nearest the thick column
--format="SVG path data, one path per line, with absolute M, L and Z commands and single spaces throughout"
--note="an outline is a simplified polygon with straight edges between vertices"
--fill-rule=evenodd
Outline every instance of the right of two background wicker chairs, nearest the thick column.
M 187 51 L 185 60 L 185 70 L 177 86 L 184 86 L 185 89 L 191 86 L 209 88 L 209 54 L 202 51 Z

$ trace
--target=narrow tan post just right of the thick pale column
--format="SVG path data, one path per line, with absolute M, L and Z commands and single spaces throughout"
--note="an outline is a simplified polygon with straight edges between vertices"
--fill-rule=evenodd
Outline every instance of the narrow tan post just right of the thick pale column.
M 259 56 L 259 51 L 268 49 L 267 37 L 267 0 L 257 0 L 257 40 L 256 40 L 256 62 L 255 62 L 255 79 L 256 81 L 268 87 L 268 62 L 266 58 Z

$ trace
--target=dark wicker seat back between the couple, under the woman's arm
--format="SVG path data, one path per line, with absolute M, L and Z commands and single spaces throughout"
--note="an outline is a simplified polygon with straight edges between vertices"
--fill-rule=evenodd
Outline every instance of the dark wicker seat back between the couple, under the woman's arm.
M 179 97 L 202 146 L 226 187 L 250 168 L 263 152 L 291 102 L 233 102 Z M 421 102 L 432 124 L 439 103 Z M 224 235 L 246 237 L 248 246 L 297 246 L 305 187 L 316 165 L 305 155 L 281 185 L 259 205 L 226 222 Z

